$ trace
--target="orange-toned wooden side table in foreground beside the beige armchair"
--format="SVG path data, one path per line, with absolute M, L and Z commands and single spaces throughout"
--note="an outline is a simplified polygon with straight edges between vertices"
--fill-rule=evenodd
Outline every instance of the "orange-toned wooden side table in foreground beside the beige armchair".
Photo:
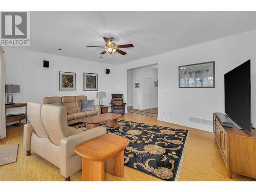
M 129 140 L 117 135 L 102 135 L 84 142 L 74 151 L 82 157 L 82 181 L 104 181 L 107 173 L 123 177 L 123 150 Z

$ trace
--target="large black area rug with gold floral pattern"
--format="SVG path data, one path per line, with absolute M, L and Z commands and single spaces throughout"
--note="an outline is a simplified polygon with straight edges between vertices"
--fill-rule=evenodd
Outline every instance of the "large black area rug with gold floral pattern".
M 86 130 L 85 125 L 76 128 Z M 187 130 L 118 120 L 118 127 L 107 127 L 107 133 L 130 140 L 124 150 L 124 165 L 162 180 L 178 180 Z

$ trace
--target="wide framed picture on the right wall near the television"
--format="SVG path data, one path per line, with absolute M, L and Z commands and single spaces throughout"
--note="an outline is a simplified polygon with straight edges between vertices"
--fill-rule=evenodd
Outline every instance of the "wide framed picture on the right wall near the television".
M 179 66 L 179 88 L 215 88 L 215 61 Z

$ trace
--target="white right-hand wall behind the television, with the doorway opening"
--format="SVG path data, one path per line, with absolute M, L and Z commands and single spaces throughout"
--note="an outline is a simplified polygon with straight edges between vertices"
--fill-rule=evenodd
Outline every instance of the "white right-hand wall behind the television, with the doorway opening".
M 224 74 L 248 59 L 251 59 L 252 123 L 256 123 L 255 44 L 256 30 L 252 30 L 124 63 L 120 67 L 125 75 L 127 69 L 158 63 L 158 119 L 212 132 L 211 125 L 191 122 L 189 117 L 211 121 L 212 113 L 224 112 Z M 216 61 L 216 88 L 178 88 L 178 66 L 213 60 Z

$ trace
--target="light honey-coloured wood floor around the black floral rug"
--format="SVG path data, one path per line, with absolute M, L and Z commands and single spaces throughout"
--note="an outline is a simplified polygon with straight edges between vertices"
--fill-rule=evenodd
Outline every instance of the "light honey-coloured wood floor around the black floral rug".
M 189 130 L 179 181 L 255 181 L 255 179 L 236 174 L 233 174 L 233 179 L 228 178 L 213 133 L 158 121 L 157 118 L 135 113 L 127 113 L 119 119 Z M 23 126 L 7 127 L 6 144 L 0 147 L 12 144 L 19 144 L 17 162 L 0 166 L 0 181 L 65 180 L 60 175 L 59 168 L 45 159 L 35 154 L 26 156 L 26 152 L 23 150 Z M 126 166 L 124 166 L 123 178 L 106 174 L 105 179 L 106 181 L 162 181 Z M 81 181 L 81 171 L 71 176 L 71 180 Z

